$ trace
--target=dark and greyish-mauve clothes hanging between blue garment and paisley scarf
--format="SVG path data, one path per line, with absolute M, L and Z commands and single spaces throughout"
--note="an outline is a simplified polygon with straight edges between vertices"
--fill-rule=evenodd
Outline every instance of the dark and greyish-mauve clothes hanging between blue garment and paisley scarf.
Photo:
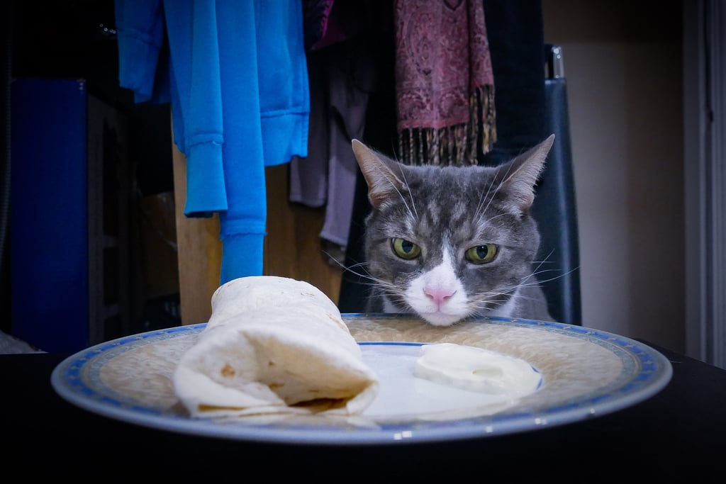
M 319 237 L 343 263 L 358 163 L 352 139 L 364 136 L 368 95 L 378 82 L 370 36 L 380 16 L 371 1 L 303 0 L 311 90 L 309 155 L 290 164 L 290 202 L 324 208 Z

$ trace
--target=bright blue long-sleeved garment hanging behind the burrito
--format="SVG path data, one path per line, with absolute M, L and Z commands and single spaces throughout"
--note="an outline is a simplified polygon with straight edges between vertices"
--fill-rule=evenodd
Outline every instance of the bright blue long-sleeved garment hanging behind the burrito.
M 184 215 L 219 213 L 220 284 L 261 275 L 264 168 L 308 149 L 300 1 L 116 0 L 115 17 L 121 86 L 171 103 Z

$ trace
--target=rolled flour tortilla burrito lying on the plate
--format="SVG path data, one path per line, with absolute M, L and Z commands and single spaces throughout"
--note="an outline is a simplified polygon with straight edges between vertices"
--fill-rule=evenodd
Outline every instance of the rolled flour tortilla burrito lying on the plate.
M 295 279 L 250 276 L 214 292 L 173 385 L 192 417 L 236 417 L 356 415 L 379 382 L 327 295 Z

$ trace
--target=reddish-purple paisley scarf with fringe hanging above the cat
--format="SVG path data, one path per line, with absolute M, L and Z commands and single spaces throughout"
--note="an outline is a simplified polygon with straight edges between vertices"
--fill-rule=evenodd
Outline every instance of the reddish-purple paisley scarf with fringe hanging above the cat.
M 472 165 L 496 141 L 481 0 L 395 0 L 399 156 Z

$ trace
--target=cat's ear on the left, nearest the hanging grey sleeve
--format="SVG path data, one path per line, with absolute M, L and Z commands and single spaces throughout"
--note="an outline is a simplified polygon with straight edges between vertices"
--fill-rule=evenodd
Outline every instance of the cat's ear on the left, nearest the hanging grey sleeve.
M 361 141 L 351 141 L 354 155 L 368 184 L 368 200 L 378 208 L 388 197 L 398 197 L 407 189 L 401 173 L 401 165 L 370 149 Z

